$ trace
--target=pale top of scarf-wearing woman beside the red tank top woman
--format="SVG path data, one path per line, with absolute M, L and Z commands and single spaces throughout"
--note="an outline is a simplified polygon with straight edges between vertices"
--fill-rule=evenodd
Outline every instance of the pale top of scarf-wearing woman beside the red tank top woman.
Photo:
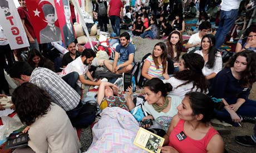
M 165 130 L 165 132 L 168 130 L 168 127 L 170 125 L 171 119 L 173 119 L 173 116 L 178 113 L 177 106 L 181 103 L 182 99 L 180 99 L 178 96 L 174 95 L 168 95 L 171 98 L 171 108 L 167 113 L 164 113 L 161 111 L 160 113 L 157 112 L 152 105 L 147 103 L 147 101 L 144 104 L 144 109 L 153 116 L 154 120 L 157 124 L 161 126 L 161 129 Z

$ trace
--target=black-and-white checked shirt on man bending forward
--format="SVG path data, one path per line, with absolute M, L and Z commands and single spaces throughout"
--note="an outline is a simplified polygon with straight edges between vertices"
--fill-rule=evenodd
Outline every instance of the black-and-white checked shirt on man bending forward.
M 46 90 L 53 103 L 65 111 L 76 108 L 80 102 L 80 95 L 62 78 L 50 69 L 35 68 L 30 76 L 30 83 Z

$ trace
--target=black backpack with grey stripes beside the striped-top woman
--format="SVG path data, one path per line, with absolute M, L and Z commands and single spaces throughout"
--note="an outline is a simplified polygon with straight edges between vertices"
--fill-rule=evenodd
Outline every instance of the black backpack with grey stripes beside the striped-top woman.
M 144 65 L 144 60 L 151 55 L 151 53 L 147 53 L 141 60 L 141 62 L 136 62 L 134 67 L 131 69 L 131 74 L 135 77 L 135 83 L 140 88 L 145 84 L 146 78 L 141 75 L 142 67 Z

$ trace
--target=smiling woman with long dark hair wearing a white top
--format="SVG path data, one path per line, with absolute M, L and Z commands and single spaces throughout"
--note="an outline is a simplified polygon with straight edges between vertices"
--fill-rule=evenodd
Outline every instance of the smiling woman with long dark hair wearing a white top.
M 212 34 L 206 34 L 201 40 L 200 50 L 194 53 L 201 55 L 204 58 L 203 74 L 205 78 L 213 79 L 218 72 L 222 69 L 221 53 L 215 47 L 215 37 Z

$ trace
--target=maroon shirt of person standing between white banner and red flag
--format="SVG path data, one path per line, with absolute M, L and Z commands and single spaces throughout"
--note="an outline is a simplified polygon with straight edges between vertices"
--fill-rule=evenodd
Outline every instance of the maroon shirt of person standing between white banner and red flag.
M 31 34 L 33 38 L 36 38 L 36 34 L 32 27 L 31 18 L 29 17 L 27 9 L 23 7 L 18 7 L 18 13 L 19 17 L 21 17 L 21 19 L 24 19 L 24 24 L 26 25 L 28 32 Z

